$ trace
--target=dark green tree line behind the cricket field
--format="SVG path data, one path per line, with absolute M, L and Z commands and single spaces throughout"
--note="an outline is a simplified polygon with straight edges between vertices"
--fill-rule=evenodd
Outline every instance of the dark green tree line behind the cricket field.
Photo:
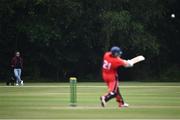
M 0 78 L 9 76 L 10 59 L 20 51 L 26 79 L 96 81 L 103 53 L 116 45 L 123 58 L 146 57 L 133 69 L 120 69 L 122 79 L 177 81 L 178 5 L 178 0 L 0 0 Z

